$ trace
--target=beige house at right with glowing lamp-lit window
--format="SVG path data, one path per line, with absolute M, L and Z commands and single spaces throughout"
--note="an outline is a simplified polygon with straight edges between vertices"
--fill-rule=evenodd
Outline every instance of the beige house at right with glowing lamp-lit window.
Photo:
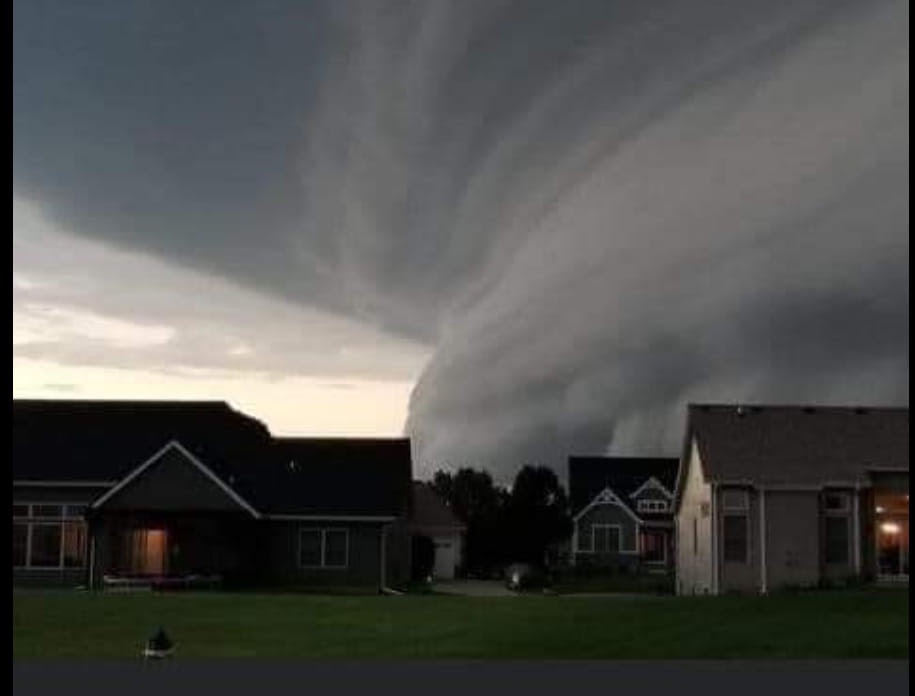
M 674 495 L 680 594 L 909 574 L 909 410 L 691 405 Z

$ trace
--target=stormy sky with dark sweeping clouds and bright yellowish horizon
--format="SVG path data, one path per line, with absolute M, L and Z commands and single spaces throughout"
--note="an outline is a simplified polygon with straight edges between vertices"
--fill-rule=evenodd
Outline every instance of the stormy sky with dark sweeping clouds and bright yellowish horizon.
M 14 5 L 13 395 L 676 455 L 908 405 L 903 0 Z

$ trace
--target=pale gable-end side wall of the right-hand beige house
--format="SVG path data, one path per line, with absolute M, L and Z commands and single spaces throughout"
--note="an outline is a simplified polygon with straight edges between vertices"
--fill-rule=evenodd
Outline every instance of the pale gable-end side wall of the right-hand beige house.
M 676 516 L 677 593 L 708 594 L 712 586 L 712 487 L 702 475 L 699 449 L 693 441 Z M 704 514 L 703 510 L 708 510 Z M 695 525 L 695 526 L 694 526 Z M 694 543 L 693 530 L 696 531 Z

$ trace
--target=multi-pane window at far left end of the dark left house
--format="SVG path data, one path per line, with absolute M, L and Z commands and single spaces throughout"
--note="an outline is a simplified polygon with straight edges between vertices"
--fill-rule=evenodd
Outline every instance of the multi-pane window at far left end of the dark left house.
M 82 568 L 86 565 L 84 505 L 13 505 L 13 567 Z

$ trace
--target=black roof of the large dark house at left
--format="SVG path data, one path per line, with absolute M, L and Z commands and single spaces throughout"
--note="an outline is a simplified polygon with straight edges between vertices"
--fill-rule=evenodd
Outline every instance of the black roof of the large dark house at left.
M 261 513 L 409 506 L 409 440 L 273 438 L 218 401 L 13 400 L 14 481 L 118 481 L 173 440 Z

